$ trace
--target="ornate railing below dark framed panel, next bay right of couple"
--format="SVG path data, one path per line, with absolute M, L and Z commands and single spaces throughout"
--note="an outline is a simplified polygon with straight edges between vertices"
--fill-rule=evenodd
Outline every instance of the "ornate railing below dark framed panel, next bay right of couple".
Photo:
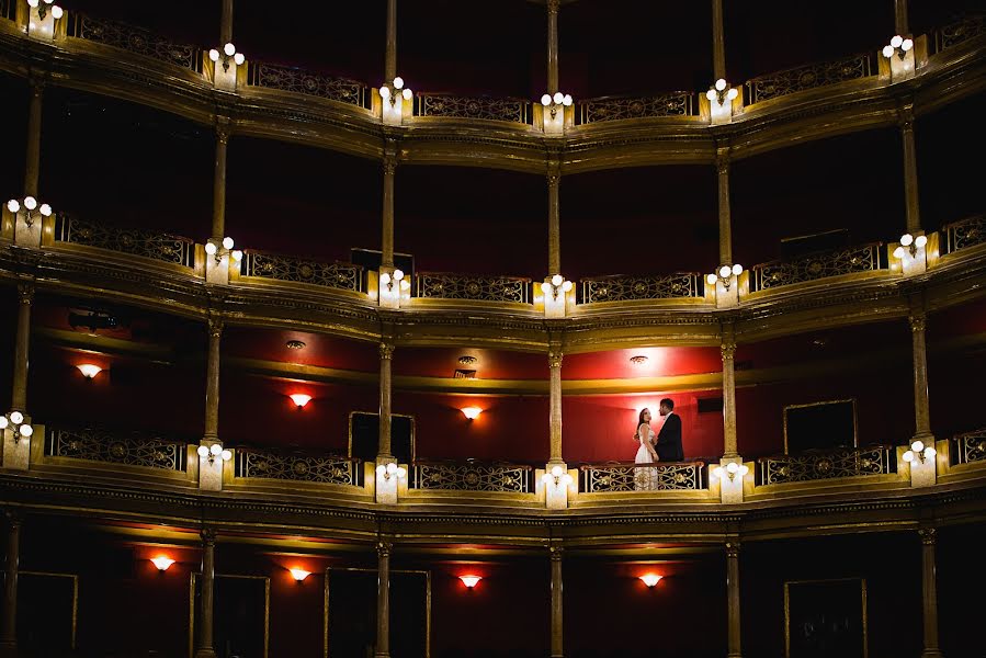
M 761 457 L 757 461 L 760 465 L 758 484 L 779 485 L 860 475 L 885 475 L 893 468 L 891 461 L 893 450 L 887 445 L 869 445 Z

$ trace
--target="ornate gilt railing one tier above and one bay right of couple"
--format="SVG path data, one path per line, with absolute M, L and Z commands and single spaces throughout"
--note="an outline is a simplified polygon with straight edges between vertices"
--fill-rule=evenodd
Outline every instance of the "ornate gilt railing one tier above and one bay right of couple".
M 882 247 L 882 242 L 873 242 L 753 265 L 750 271 L 751 292 L 842 274 L 885 270 L 887 262 Z

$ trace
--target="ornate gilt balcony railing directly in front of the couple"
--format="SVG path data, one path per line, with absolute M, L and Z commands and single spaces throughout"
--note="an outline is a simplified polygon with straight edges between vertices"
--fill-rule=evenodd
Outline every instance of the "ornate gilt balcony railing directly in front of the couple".
M 698 491 L 706 488 L 705 462 L 607 462 L 579 467 L 582 491 Z

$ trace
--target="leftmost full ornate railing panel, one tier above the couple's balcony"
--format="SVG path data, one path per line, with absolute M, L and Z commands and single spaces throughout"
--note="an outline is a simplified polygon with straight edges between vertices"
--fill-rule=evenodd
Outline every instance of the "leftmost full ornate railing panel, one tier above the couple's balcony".
M 195 265 L 195 242 L 190 238 L 143 228 L 103 226 L 65 214 L 56 219 L 55 240 L 120 251 L 185 268 Z

